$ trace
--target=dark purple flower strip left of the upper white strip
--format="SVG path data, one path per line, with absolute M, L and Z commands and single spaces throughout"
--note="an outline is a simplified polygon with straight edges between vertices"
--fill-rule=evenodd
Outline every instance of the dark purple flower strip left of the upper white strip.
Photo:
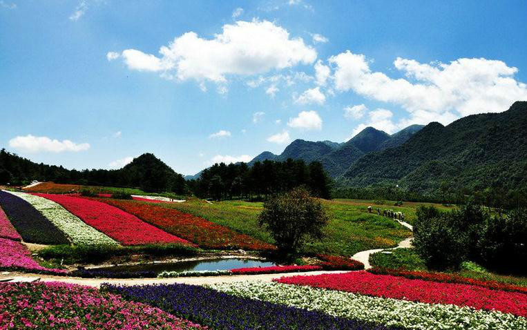
M 0 206 L 25 242 L 69 244 L 64 233 L 25 200 L 0 191 Z

